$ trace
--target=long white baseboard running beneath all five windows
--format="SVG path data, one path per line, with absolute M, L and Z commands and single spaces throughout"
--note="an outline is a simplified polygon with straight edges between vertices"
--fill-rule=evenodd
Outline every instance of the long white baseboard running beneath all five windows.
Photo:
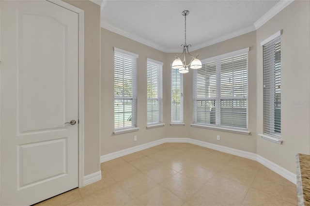
M 216 144 L 211 144 L 211 143 L 207 143 L 207 142 L 203 142 L 200 140 L 196 140 L 196 139 L 191 139 L 191 138 L 163 138 L 160 140 L 156 140 L 153 142 L 149 142 L 143 145 L 139 145 L 139 146 L 135 146 L 135 147 L 130 147 L 127 149 L 123 149 L 117 152 L 113 152 L 110 154 L 106 154 L 106 155 L 102 155 L 100 157 L 100 162 L 107 162 L 109 160 L 113 160 L 115 158 L 119 158 L 122 157 L 124 155 L 128 155 L 134 152 L 138 152 L 140 150 L 143 149 L 147 149 L 149 147 L 154 147 L 156 145 L 160 145 L 163 143 L 190 143 L 193 145 L 198 145 L 201 147 L 207 147 L 210 149 L 214 149 L 217 151 L 221 151 L 221 152 L 225 152 L 228 154 L 232 154 L 232 155 L 236 155 L 239 157 L 243 157 L 243 158 L 247 158 L 250 160 L 255 160 L 261 164 L 263 164 L 265 167 L 271 169 L 272 171 L 278 173 L 280 176 L 286 178 L 287 180 L 293 182 L 294 184 L 296 184 L 296 175 L 286 169 L 284 169 L 283 167 L 280 167 L 278 164 L 271 162 L 265 158 L 263 158 L 260 155 L 257 155 L 255 153 L 252 152 L 247 152 L 247 151 L 243 151 L 243 150 L 239 150 L 239 149 L 234 149 L 231 147 L 224 147 L 221 145 L 216 145 Z M 101 174 L 100 174 L 101 175 Z M 85 178 L 84 178 L 84 183 L 85 183 Z

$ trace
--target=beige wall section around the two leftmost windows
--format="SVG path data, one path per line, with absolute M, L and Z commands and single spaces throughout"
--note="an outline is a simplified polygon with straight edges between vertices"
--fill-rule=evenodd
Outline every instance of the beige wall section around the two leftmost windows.
M 137 132 L 128 132 L 114 135 L 114 50 L 117 47 L 139 55 L 137 62 L 138 69 L 138 117 L 137 125 L 140 128 Z M 147 58 L 155 59 L 164 63 L 163 76 L 166 71 L 166 56 L 164 52 L 152 47 L 140 44 L 124 36 L 101 28 L 101 155 L 119 151 L 125 148 L 134 147 L 144 143 L 152 142 L 165 137 L 165 127 L 170 123 L 167 115 L 164 115 L 164 127 L 146 129 L 146 62 Z M 163 88 L 167 88 L 166 81 Z M 170 92 L 170 90 L 169 90 Z M 163 91 L 163 113 L 166 114 L 167 90 Z M 170 101 L 170 100 L 169 100 Z M 138 136 L 138 141 L 134 141 L 134 136 Z

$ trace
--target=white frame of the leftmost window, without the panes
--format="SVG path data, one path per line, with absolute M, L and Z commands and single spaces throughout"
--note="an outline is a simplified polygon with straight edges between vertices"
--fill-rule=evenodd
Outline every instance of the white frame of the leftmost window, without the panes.
M 116 61 L 115 57 L 119 56 L 120 58 L 128 58 L 131 59 L 133 62 L 133 67 L 131 68 L 131 96 L 115 96 L 115 72 L 116 72 Z M 119 49 L 114 47 L 114 134 L 120 134 L 120 133 L 125 133 L 125 132 L 133 132 L 133 131 L 138 131 L 139 128 L 137 127 L 137 102 L 138 102 L 138 97 L 137 97 L 137 69 L 138 69 L 138 57 L 139 55 Z M 123 67 L 123 73 L 124 73 L 124 67 Z M 123 80 L 124 81 L 124 80 Z M 125 100 L 131 100 L 132 101 L 132 106 L 131 106 L 131 119 L 132 119 L 132 124 L 130 126 L 123 126 L 123 127 L 115 127 L 115 101 L 120 100 L 120 101 L 125 101 Z M 125 110 L 123 110 L 123 113 L 125 113 Z M 125 118 L 124 118 L 125 119 Z M 124 121 L 123 119 L 123 121 Z

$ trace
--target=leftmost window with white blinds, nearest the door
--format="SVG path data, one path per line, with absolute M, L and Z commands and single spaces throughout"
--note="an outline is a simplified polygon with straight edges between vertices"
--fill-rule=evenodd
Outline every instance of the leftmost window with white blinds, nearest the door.
M 114 48 L 114 129 L 137 126 L 137 58 Z

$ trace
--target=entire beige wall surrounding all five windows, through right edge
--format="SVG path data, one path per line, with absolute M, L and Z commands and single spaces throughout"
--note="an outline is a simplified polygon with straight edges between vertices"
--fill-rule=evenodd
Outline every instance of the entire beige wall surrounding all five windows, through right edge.
M 263 91 L 260 42 L 279 29 L 281 37 L 283 145 L 262 139 Z M 138 132 L 113 135 L 113 47 L 136 54 L 138 60 Z M 106 29 L 101 29 L 101 155 L 164 137 L 193 139 L 253 152 L 295 173 L 295 154 L 310 153 L 310 1 L 295 0 L 256 31 L 192 51 L 200 59 L 250 47 L 248 53 L 249 135 L 190 127 L 192 123 L 192 71 L 184 75 L 185 126 L 170 126 L 171 69 L 174 54 L 163 53 Z M 181 50 L 181 49 L 180 49 Z M 163 108 L 165 127 L 146 130 L 146 58 L 164 62 Z M 296 103 L 294 104 L 294 101 Z M 303 102 L 298 105 L 298 102 Z M 133 136 L 138 135 L 138 141 Z M 221 140 L 216 137 L 220 135 Z

